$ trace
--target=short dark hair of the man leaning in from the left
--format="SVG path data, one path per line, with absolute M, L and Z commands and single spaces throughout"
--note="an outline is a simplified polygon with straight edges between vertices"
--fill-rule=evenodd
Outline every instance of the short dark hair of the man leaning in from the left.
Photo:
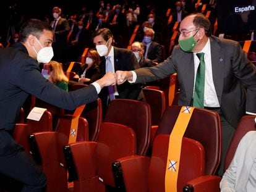
M 20 28 L 19 41 L 24 43 L 27 40 L 28 35 L 34 35 L 39 39 L 43 30 L 53 31 L 53 28 L 51 25 L 49 25 L 49 23 L 43 22 L 42 20 L 29 19 L 27 22 L 23 23 L 22 27 Z

